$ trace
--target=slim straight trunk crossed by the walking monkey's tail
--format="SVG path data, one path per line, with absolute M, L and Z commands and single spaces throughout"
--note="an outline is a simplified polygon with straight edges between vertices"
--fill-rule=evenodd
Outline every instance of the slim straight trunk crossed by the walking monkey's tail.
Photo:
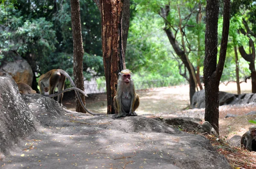
M 72 22 L 72 34 L 73 34 L 73 70 L 75 85 L 79 89 L 84 91 L 84 74 L 83 74 L 83 40 L 81 31 L 81 18 L 80 18 L 80 4 L 79 0 L 70 0 L 71 5 L 71 22 Z M 80 94 L 80 93 L 79 93 Z M 85 96 L 80 94 L 81 99 L 85 105 Z M 76 111 L 86 113 L 81 107 L 78 97 L 76 96 Z

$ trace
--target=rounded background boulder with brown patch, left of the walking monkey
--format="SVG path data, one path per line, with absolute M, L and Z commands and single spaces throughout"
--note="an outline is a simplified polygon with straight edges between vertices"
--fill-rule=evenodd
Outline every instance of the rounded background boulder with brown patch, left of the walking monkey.
M 13 62 L 7 62 L 0 66 L 0 76 L 9 77 L 15 82 L 23 82 L 31 86 L 33 81 L 33 72 L 29 63 L 13 51 L 6 52 L 14 59 Z

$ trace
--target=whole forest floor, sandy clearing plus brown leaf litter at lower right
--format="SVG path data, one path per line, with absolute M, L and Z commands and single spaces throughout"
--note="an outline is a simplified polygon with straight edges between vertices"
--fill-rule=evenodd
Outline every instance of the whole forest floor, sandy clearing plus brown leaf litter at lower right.
M 241 93 L 251 93 L 251 82 L 243 82 Z M 219 86 L 220 91 L 228 93 L 237 93 L 236 83 L 229 83 Z M 204 120 L 204 109 L 189 109 L 189 86 L 180 85 L 173 87 L 152 88 L 148 90 L 139 90 L 140 106 L 136 110 L 138 115 L 147 117 L 198 117 Z M 73 99 L 63 100 L 67 109 L 75 111 L 75 102 Z M 86 98 L 86 107 L 94 113 L 107 113 L 106 94 L 90 94 Z M 255 120 L 256 115 L 245 115 L 250 111 L 256 111 L 255 104 L 225 105 L 219 107 L 219 131 L 221 140 L 228 140 L 233 135 L 243 135 L 253 124 L 248 120 Z M 225 118 L 227 114 L 238 115 L 235 118 Z M 208 137 L 207 137 L 208 138 Z M 224 143 L 215 141 L 212 137 L 209 140 L 213 145 L 222 145 Z M 225 142 L 225 141 L 224 141 Z M 231 150 L 218 149 L 226 156 L 230 164 L 237 169 L 255 169 L 256 152 L 248 152 L 240 148 Z

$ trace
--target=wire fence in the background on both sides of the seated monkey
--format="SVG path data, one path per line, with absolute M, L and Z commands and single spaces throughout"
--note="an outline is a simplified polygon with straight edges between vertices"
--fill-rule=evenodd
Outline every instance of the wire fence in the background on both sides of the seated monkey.
M 150 89 L 156 87 L 169 87 L 175 85 L 171 79 L 164 80 L 150 80 L 150 81 L 138 81 L 134 82 L 136 90 Z M 84 85 L 85 93 L 106 93 L 106 83 L 93 83 Z

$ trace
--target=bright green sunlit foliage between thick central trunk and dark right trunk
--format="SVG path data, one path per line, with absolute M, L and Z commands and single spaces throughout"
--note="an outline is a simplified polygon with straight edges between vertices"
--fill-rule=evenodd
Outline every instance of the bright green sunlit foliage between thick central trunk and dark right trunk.
M 174 78 L 174 82 L 184 82 L 183 77 L 179 74 L 177 60 L 180 63 L 181 61 L 177 59 L 177 55 L 166 33 L 163 31 L 165 27 L 164 21 L 169 23 L 177 42 L 181 44 L 178 7 L 180 8 L 183 31 L 186 33 L 184 38 L 187 54 L 194 65 L 202 66 L 205 25 L 203 22 L 197 23 L 197 15 L 194 12 L 191 13 L 192 8 L 199 1 L 134 0 L 133 2 L 137 4 L 135 7 L 136 16 L 130 24 L 125 58 L 126 66 L 129 65 L 129 68 L 133 68 L 133 71 L 142 70 L 142 72 L 146 72 L 147 76 L 142 73 L 141 77 L 143 79 L 171 77 Z M 205 5 L 205 1 L 201 1 L 201 3 Z M 166 5 L 170 6 L 170 11 L 165 20 L 160 15 L 160 11 Z M 132 46 L 132 49 L 130 46 Z M 180 48 L 182 49 L 181 45 Z M 136 76 L 134 78 L 136 79 Z

